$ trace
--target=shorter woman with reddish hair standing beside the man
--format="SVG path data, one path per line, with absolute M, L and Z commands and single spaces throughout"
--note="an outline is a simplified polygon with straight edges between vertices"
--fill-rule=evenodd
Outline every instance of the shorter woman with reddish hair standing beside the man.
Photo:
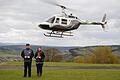
M 38 77 L 42 76 L 42 66 L 44 63 L 44 58 L 45 58 L 44 52 L 42 51 L 41 48 L 38 48 L 36 53 L 35 53 L 37 76 Z

